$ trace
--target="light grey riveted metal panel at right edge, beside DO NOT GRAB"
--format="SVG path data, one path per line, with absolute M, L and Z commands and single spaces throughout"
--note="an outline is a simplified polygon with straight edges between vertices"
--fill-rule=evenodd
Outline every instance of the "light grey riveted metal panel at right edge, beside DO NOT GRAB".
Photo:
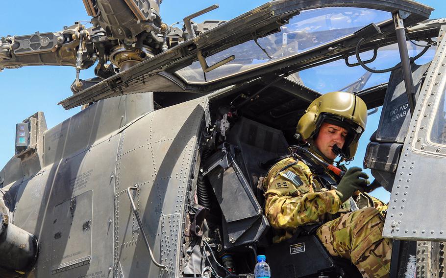
M 441 84 L 446 66 L 443 38 L 428 70 L 417 101 L 416 114 L 404 142 L 396 170 L 383 235 L 398 239 L 445 240 L 444 181 L 446 147 L 427 141 L 433 103 L 443 97 Z

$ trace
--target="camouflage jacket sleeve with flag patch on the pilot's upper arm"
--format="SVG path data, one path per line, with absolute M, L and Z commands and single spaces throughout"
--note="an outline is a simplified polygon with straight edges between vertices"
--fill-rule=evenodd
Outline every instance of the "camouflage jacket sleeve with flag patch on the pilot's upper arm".
M 283 163 L 274 165 L 266 177 L 265 213 L 276 229 L 294 229 L 306 224 L 320 223 L 325 213 L 336 213 L 341 200 L 335 190 L 314 192 L 313 176 L 303 162 L 283 171 Z M 296 178 L 297 177 L 297 178 Z

